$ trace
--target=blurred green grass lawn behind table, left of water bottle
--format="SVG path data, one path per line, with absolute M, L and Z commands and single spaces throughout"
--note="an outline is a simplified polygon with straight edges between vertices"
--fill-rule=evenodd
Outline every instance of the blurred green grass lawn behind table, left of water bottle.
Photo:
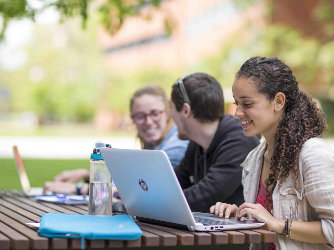
M 23 159 L 30 185 L 32 187 L 42 187 L 45 181 L 52 181 L 53 177 L 63 170 L 75 168 L 89 169 L 89 161 L 89 159 Z M 0 189 L 22 189 L 14 159 L 0 159 L 0 171 Z

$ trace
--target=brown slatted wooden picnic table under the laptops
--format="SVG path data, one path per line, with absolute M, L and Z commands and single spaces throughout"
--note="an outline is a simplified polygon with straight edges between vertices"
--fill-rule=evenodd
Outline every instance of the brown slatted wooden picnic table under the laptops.
M 41 237 L 36 227 L 25 224 L 39 222 L 45 213 L 88 214 L 88 205 L 39 202 L 32 197 L 25 197 L 20 191 L 0 190 L 0 250 L 80 249 L 80 239 Z M 274 232 L 262 229 L 190 232 L 149 223 L 136 223 L 143 231 L 138 240 L 85 240 L 85 248 L 248 249 L 249 243 L 275 242 L 276 237 Z

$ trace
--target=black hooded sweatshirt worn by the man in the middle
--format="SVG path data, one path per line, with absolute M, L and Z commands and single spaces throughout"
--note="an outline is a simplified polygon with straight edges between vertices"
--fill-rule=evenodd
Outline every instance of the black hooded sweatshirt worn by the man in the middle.
M 209 212 L 217 201 L 244 202 L 240 164 L 256 146 L 260 136 L 246 137 L 239 119 L 224 115 L 208 149 L 191 141 L 176 176 L 192 211 Z

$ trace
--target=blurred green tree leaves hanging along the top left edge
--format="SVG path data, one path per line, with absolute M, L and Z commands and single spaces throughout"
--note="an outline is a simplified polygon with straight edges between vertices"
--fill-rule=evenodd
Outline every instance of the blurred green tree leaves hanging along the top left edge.
M 139 15 L 141 9 L 146 6 L 159 7 L 162 1 L 106 0 L 98 8 L 101 14 L 101 23 L 111 34 L 114 34 L 120 29 L 127 17 Z M 41 6 L 35 7 L 27 0 L 0 0 L 0 17 L 2 17 L 0 42 L 4 39 L 5 30 L 10 20 L 28 18 L 34 21 L 37 14 L 52 6 L 60 13 L 60 21 L 79 15 L 82 19 L 82 27 L 85 28 L 89 16 L 89 3 L 93 0 L 39 0 L 39 2 Z M 168 27 L 168 20 L 166 22 Z

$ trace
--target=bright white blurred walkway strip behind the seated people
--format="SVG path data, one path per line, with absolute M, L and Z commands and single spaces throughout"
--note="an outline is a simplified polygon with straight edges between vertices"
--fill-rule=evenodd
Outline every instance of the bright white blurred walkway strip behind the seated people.
M 131 137 L 0 137 L 0 158 L 13 158 L 13 146 L 17 145 L 22 158 L 87 159 L 97 141 L 111 143 L 113 148 L 140 149 L 139 140 Z M 334 150 L 334 138 L 325 141 Z

